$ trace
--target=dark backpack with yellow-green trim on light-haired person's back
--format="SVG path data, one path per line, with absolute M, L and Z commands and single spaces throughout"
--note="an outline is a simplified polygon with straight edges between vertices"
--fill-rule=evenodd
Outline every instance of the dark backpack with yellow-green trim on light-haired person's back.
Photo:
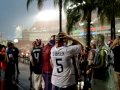
M 108 80 L 109 60 L 110 49 L 107 46 L 103 46 L 100 50 L 96 51 L 93 65 L 93 78 Z

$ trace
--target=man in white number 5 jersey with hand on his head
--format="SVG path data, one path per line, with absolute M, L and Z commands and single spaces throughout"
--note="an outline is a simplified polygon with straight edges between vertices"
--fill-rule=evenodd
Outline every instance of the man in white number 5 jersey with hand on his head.
M 72 41 L 75 45 L 67 46 L 67 41 Z M 59 33 L 56 45 L 51 49 L 52 90 L 76 90 L 75 70 L 72 57 L 80 53 L 82 44 L 65 35 Z

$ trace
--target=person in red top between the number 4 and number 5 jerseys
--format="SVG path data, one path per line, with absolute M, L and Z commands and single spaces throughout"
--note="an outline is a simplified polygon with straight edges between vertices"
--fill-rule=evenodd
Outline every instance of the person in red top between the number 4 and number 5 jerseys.
M 55 35 L 52 35 L 47 45 L 43 48 L 43 78 L 45 81 L 45 90 L 52 90 L 51 76 L 52 76 L 52 66 L 50 63 L 51 48 L 55 45 Z

